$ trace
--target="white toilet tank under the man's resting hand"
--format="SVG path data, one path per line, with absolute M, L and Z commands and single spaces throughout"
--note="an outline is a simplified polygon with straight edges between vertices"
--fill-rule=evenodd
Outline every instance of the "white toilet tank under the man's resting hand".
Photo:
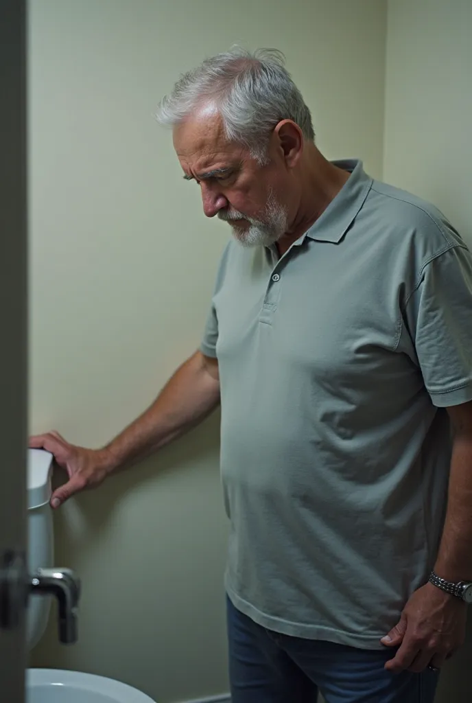
M 53 515 L 49 505 L 53 455 L 44 449 L 28 449 L 28 570 L 51 568 L 54 561 Z M 51 596 L 31 595 L 27 610 L 27 644 L 37 645 L 48 623 Z

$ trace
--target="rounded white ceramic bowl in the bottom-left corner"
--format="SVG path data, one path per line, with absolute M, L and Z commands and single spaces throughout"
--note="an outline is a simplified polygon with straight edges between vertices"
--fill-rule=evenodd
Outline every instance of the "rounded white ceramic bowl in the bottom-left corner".
M 27 669 L 26 703 L 155 703 L 136 688 L 91 673 Z

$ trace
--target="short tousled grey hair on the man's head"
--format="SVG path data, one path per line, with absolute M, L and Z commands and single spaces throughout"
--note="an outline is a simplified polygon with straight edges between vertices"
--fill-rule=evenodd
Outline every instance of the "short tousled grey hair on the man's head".
M 207 58 L 185 73 L 157 111 L 159 124 L 173 127 L 207 103 L 214 103 L 229 141 L 247 146 L 265 160 L 270 134 L 280 120 L 293 120 L 313 141 L 310 110 L 284 67 L 277 49 L 254 53 L 239 46 Z

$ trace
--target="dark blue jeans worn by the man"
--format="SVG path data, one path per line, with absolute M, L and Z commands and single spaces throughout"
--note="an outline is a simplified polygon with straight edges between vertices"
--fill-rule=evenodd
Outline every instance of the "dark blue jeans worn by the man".
M 433 703 L 438 673 L 391 673 L 394 651 L 362 650 L 267 630 L 228 598 L 232 703 Z

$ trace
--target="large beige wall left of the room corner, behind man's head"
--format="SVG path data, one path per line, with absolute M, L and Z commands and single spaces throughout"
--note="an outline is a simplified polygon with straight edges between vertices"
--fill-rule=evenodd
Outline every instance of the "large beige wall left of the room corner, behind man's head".
M 329 157 L 381 175 L 379 0 L 32 0 L 30 430 L 99 446 L 199 342 L 228 230 L 207 221 L 162 93 L 235 42 L 275 46 Z M 100 673 L 159 703 L 228 689 L 218 418 L 56 515 L 84 581 L 80 641 L 33 664 Z

